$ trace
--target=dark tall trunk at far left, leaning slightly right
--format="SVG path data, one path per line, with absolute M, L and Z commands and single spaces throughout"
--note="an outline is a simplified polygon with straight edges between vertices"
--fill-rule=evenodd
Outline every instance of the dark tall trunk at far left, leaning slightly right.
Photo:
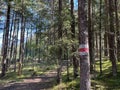
M 3 77 L 6 73 L 6 63 L 7 63 L 7 49 L 8 49 L 8 36 L 9 36 L 9 26 L 10 26 L 10 3 L 8 2 L 7 7 L 7 20 L 5 27 L 5 36 L 3 41 L 3 58 L 2 58 L 2 72 L 1 77 Z

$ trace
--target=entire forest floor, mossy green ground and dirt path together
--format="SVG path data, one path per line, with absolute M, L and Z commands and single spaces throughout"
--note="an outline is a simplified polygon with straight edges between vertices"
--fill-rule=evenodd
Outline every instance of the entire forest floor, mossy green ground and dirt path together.
M 0 90 L 79 90 L 80 77 L 73 78 L 73 68 L 69 67 L 69 81 L 66 67 L 62 71 L 62 83 L 56 84 L 56 66 L 32 64 L 24 67 L 21 76 L 10 70 L 0 78 Z M 91 77 L 91 90 L 120 90 L 120 62 L 117 62 L 118 75 L 112 76 L 111 62 L 102 62 L 103 73 L 100 75 L 99 61 L 95 63 L 95 72 Z

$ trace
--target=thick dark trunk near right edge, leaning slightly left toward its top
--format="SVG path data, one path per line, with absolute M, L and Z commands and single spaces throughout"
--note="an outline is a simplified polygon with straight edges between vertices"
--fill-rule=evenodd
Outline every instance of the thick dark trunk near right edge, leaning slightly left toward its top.
M 113 76 L 117 76 L 116 66 L 116 52 L 115 52 L 115 30 L 114 30 L 114 3 L 113 0 L 109 0 L 109 21 L 110 21 L 110 32 L 109 32 L 109 56 L 112 63 Z

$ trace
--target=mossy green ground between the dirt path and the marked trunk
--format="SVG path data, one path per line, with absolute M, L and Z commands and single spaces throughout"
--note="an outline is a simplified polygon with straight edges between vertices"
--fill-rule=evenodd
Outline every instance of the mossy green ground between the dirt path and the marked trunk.
M 69 80 L 67 77 L 67 72 L 62 72 L 62 83 L 59 85 L 55 85 L 52 90 L 78 90 L 79 89 L 79 81 L 80 78 L 77 77 L 76 79 L 73 78 L 73 69 L 72 67 L 69 68 Z

